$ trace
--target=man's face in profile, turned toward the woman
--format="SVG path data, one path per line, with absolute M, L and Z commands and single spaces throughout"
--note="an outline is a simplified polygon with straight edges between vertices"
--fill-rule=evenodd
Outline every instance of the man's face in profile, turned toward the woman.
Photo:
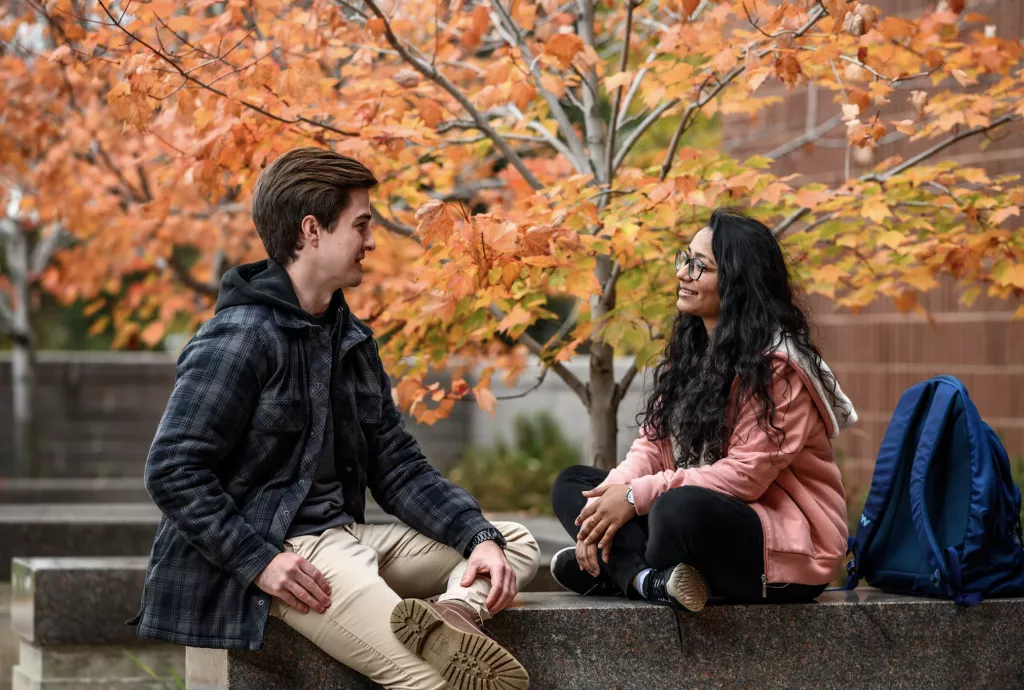
M 334 227 L 321 234 L 317 273 L 333 290 L 354 288 L 362 282 L 362 259 L 377 248 L 370 218 L 370 191 L 352 189 Z

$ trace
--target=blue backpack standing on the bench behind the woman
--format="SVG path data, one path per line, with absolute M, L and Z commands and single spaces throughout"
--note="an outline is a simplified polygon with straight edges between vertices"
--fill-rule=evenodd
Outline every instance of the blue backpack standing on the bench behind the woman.
M 907 389 L 879 450 L 850 540 L 847 587 L 952 599 L 1024 596 L 1021 492 L 964 384 Z

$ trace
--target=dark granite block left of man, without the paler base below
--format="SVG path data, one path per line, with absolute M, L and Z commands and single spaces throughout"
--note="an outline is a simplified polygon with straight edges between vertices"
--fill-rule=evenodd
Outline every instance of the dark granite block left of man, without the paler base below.
M 11 628 L 41 645 L 136 644 L 146 559 L 15 559 Z

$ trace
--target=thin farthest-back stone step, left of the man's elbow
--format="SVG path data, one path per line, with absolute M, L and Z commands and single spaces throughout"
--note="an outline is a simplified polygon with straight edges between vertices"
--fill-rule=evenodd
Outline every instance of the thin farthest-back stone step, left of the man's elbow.
M 142 477 L 0 478 L 2 504 L 153 503 Z

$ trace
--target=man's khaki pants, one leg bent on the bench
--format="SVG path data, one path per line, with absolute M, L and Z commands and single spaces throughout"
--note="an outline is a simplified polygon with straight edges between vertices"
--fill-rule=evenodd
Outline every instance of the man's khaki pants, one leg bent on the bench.
M 525 587 L 537 573 L 541 550 L 522 525 L 497 522 L 508 541 L 505 556 Z M 451 547 L 403 524 L 350 524 L 315 536 L 287 540 L 285 548 L 309 561 L 331 584 L 331 606 L 323 614 L 299 613 L 280 599 L 275 615 L 345 665 L 385 688 L 447 688 L 444 679 L 416 656 L 391 632 L 391 609 L 401 599 L 467 602 L 489 617 L 483 602 L 490 589 L 485 577 L 460 585 L 466 559 Z

